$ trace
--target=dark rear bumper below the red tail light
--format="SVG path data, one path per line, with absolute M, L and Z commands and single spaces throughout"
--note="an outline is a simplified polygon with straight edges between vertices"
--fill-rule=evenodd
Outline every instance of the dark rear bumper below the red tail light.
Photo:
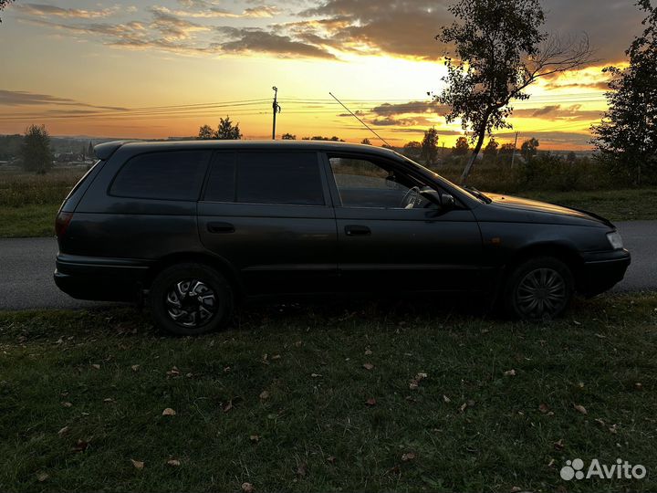
M 139 299 L 148 262 L 130 258 L 57 255 L 55 284 L 75 299 L 134 301 Z

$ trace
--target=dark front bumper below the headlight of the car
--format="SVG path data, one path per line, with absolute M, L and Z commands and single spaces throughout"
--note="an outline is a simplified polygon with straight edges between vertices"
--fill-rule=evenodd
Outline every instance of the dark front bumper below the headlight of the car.
M 583 256 L 584 265 L 579 275 L 579 291 L 595 296 L 613 288 L 631 264 L 630 252 L 625 249 L 612 252 L 591 252 Z

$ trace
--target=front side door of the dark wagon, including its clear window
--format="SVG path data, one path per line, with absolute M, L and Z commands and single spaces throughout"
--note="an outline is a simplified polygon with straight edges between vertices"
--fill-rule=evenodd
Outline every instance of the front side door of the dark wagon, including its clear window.
M 336 204 L 343 288 L 477 288 L 482 244 L 470 210 L 428 202 L 418 189 L 437 185 L 423 183 L 392 160 L 329 153 L 325 166 Z

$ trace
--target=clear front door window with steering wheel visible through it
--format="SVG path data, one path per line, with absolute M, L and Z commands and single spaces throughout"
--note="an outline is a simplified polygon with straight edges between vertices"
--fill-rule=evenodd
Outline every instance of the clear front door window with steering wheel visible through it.
M 410 209 L 429 203 L 419 184 L 382 163 L 349 157 L 329 157 L 343 207 Z

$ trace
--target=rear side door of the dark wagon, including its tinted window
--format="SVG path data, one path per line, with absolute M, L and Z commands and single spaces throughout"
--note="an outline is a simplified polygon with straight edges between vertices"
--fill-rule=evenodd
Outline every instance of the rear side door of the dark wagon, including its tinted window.
M 249 294 L 330 290 L 337 277 L 335 214 L 317 152 L 217 152 L 198 226 Z

